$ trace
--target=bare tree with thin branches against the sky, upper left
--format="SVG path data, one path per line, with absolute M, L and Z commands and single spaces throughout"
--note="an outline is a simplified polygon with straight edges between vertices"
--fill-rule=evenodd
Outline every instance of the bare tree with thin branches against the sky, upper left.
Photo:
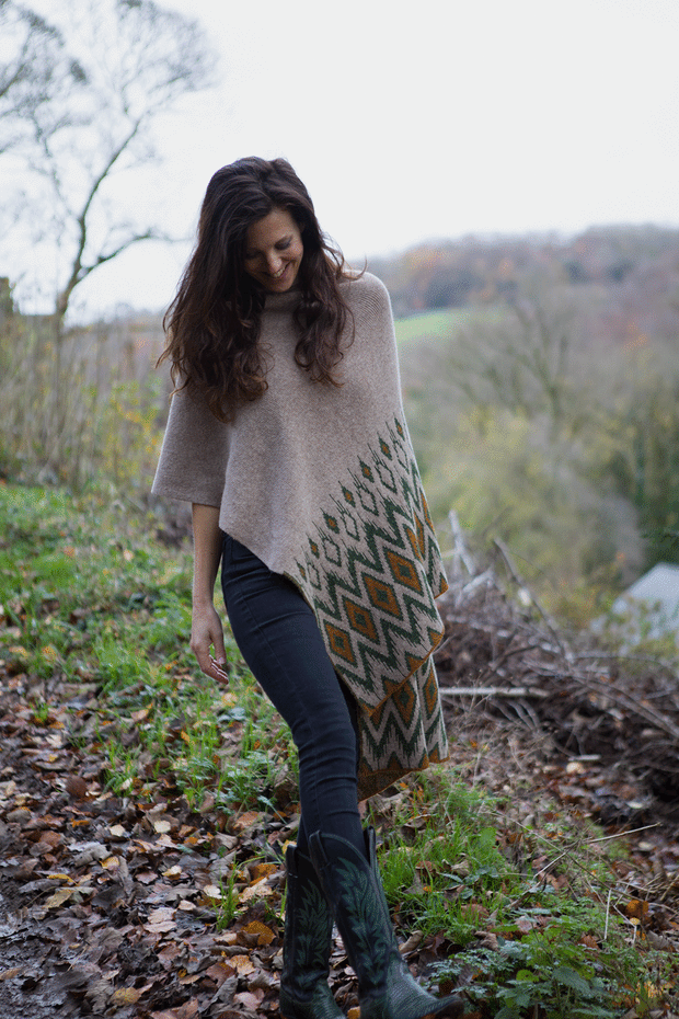
M 0 2 L 2 10 L 13 7 Z M 60 265 L 59 341 L 83 279 L 134 244 L 169 239 L 147 203 L 116 196 L 116 178 L 158 160 L 156 122 L 210 83 L 212 59 L 197 23 L 153 0 L 60 0 L 50 7 L 54 26 L 25 9 L 15 8 L 14 18 L 28 28 L 23 38 L 16 34 L 14 64 L 38 44 L 66 50 L 58 80 L 55 65 L 53 79 L 42 81 L 39 102 L 9 88 L 15 105 L 7 117 L 27 135 L 21 154 L 31 220 L 38 224 L 33 238 L 54 245 Z

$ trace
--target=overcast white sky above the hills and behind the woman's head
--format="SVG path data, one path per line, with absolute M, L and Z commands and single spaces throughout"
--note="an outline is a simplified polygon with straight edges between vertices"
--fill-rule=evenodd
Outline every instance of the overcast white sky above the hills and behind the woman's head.
M 154 201 L 177 233 L 211 173 L 250 154 L 290 160 L 352 261 L 469 232 L 679 225 L 678 0 L 159 2 L 221 60 L 166 139 Z M 146 245 L 81 299 L 161 307 L 187 254 Z

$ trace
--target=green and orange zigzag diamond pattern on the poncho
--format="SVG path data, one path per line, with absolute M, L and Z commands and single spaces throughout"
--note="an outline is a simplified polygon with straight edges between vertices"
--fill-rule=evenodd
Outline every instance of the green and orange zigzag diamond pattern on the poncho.
M 405 425 L 387 423 L 321 516 L 290 577 L 359 706 L 362 795 L 448 754 L 431 662 L 447 588 Z

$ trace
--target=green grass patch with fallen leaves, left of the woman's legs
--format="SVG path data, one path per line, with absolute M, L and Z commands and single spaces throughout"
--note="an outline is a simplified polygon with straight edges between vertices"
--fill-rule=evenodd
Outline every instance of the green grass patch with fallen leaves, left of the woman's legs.
M 288 728 L 228 628 L 230 687 L 202 675 L 188 650 L 189 548 L 153 541 L 154 524 L 103 497 L 2 486 L 0 657 L 53 685 L 96 687 L 87 735 L 114 792 L 142 794 L 162 774 L 189 805 L 209 793 L 222 810 L 275 812 L 295 786 Z M 36 702 L 36 722 L 49 696 Z M 76 714 L 70 724 L 78 741 Z

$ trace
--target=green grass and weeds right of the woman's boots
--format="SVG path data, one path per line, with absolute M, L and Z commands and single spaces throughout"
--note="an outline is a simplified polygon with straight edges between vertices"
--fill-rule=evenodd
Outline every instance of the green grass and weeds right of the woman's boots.
M 540 831 L 513 825 L 502 800 L 446 769 L 407 786 L 381 852 L 384 890 L 406 930 L 449 943 L 435 983 L 461 982 L 483 1019 L 615 1019 L 632 1005 L 644 1017 L 665 999 L 676 959 L 634 944 L 619 841 L 563 812 Z

